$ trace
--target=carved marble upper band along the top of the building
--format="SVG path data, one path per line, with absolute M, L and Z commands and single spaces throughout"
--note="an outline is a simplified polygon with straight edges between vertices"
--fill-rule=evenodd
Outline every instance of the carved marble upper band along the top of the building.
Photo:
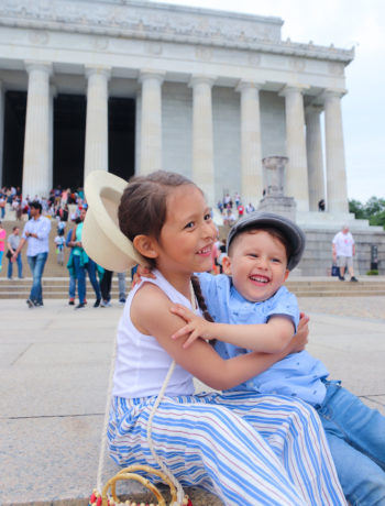
M 278 18 L 230 15 L 143 0 L 0 0 L 0 25 L 15 24 L 37 31 L 94 33 L 105 36 L 105 41 L 119 36 L 182 42 L 307 56 L 344 65 L 354 56 L 353 50 L 283 42 Z M 207 58 L 202 54 L 201 59 Z

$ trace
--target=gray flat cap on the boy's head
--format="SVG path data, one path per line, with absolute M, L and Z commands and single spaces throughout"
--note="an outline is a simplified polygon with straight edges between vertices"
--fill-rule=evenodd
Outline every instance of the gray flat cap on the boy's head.
M 227 244 L 228 251 L 232 240 L 240 232 L 248 229 L 264 228 L 278 229 L 287 238 L 292 245 L 292 254 L 287 261 L 287 268 L 293 271 L 302 256 L 306 237 L 302 230 L 294 221 L 283 216 L 275 215 L 274 212 L 254 211 L 241 218 L 230 229 Z

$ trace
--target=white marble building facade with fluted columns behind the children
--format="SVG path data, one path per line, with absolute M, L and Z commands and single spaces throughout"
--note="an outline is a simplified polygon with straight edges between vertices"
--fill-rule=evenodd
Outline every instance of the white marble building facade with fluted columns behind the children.
M 211 205 L 224 190 L 257 205 L 262 158 L 288 156 L 298 221 L 319 224 L 321 198 L 327 221 L 352 221 L 340 102 L 353 50 L 283 41 L 282 24 L 139 0 L 0 0 L 0 133 L 7 91 L 26 91 L 23 193 L 52 187 L 57 94 L 87 98 L 84 176 L 109 169 L 108 99 L 120 97 L 135 100 L 136 174 L 177 170 Z

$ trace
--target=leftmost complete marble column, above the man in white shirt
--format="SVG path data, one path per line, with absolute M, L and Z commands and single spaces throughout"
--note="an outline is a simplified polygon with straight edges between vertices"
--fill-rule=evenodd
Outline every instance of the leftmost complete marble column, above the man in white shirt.
M 25 62 L 29 73 L 23 162 L 23 196 L 47 197 L 52 185 L 50 114 L 51 63 Z

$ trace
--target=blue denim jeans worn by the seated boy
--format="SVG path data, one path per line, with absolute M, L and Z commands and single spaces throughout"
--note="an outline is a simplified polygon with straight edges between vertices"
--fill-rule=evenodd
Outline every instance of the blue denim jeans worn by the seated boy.
M 340 382 L 326 382 L 326 386 L 317 411 L 343 493 L 352 506 L 385 505 L 385 417 Z

